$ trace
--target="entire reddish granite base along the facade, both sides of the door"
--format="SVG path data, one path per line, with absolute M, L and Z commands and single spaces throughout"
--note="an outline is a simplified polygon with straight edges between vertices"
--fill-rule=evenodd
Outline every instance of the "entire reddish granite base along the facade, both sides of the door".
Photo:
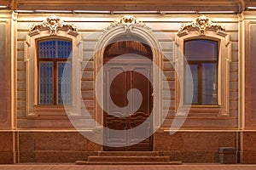
M 184 163 L 218 163 L 220 147 L 236 147 L 236 132 L 168 132 L 154 133 L 154 150 L 160 156 Z M 241 133 L 241 160 L 256 163 L 256 133 Z M 14 139 L 15 138 L 15 139 Z M 15 148 L 13 142 L 15 141 Z M 0 163 L 75 162 L 96 156 L 102 146 L 77 132 L 22 132 L 0 133 Z

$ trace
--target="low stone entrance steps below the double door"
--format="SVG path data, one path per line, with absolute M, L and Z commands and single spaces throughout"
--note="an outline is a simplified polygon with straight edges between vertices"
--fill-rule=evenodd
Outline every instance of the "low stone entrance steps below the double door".
M 169 156 L 159 156 L 158 151 L 99 151 L 98 156 L 89 156 L 88 161 L 76 161 L 77 165 L 180 165 L 170 161 Z

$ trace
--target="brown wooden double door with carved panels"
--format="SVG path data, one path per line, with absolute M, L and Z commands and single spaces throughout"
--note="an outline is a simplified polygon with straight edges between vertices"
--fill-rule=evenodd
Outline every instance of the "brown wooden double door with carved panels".
M 104 59 L 107 63 L 109 59 Z M 128 56 L 116 59 L 104 67 L 104 150 L 106 151 L 150 151 L 153 150 L 153 87 L 152 62 Z M 151 81 L 150 81 L 151 80 Z M 136 88 L 142 94 L 142 103 L 134 110 L 137 97 L 127 93 Z M 113 104 L 119 110 L 113 107 Z M 128 111 L 129 110 L 129 111 Z

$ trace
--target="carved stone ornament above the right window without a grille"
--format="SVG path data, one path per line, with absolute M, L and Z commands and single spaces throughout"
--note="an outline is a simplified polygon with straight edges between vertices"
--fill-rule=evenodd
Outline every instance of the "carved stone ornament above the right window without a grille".
M 189 24 L 183 24 L 179 31 L 177 32 L 177 36 L 183 37 L 184 35 L 187 35 L 189 31 L 199 31 L 199 34 L 201 36 L 205 36 L 207 30 L 225 31 L 225 28 L 224 26 L 212 23 L 212 20 L 210 20 L 207 16 L 201 15 L 200 17 L 196 18 L 193 22 Z

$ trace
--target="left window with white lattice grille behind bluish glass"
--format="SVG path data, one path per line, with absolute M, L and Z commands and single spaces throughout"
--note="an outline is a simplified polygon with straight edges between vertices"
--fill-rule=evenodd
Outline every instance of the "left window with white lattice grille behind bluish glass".
M 72 42 L 38 42 L 38 105 L 71 105 Z

